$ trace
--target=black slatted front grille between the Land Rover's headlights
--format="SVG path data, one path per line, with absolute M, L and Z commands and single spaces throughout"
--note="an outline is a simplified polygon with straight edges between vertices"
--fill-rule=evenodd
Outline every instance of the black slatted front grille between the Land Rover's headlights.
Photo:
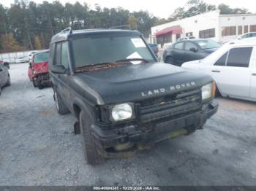
M 200 90 L 141 101 L 140 122 L 149 123 L 181 117 L 199 111 L 201 106 Z

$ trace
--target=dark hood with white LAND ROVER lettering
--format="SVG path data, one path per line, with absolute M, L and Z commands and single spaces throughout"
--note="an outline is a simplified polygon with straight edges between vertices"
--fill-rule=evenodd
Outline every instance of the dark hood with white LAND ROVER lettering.
M 167 63 L 118 66 L 76 73 L 74 78 L 78 89 L 90 87 L 102 97 L 104 104 L 159 97 L 200 88 L 213 81 L 207 74 Z

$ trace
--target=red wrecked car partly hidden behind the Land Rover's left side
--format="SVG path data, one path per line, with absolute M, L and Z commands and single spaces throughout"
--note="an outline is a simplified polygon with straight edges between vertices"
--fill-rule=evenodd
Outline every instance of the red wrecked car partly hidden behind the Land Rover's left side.
M 49 67 L 48 67 L 49 50 L 37 52 L 33 55 L 32 61 L 29 63 L 28 75 L 34 87 L 42 89 L 50 86 Z

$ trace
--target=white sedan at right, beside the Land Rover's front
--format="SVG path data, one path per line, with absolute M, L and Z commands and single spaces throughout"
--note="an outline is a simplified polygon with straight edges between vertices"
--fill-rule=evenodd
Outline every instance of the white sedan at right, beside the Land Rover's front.
M 256 41 L 226 44 L 201 61 L 182 67 L 210 74 L 225 97 L 256 101 Z

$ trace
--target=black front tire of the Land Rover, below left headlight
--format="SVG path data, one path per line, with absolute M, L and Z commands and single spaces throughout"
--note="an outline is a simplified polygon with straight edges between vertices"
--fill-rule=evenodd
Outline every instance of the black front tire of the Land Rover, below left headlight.
M 79 114 L 80 130 L 83 136 L 83 150 L 87 163 L 97 165 L 103 163 L 105 158 L 99 154 L 97 144 L 94 142 L 94 137 L 91 133 L 91 125 L 93 121 L 88 112 L 81 111 Z

